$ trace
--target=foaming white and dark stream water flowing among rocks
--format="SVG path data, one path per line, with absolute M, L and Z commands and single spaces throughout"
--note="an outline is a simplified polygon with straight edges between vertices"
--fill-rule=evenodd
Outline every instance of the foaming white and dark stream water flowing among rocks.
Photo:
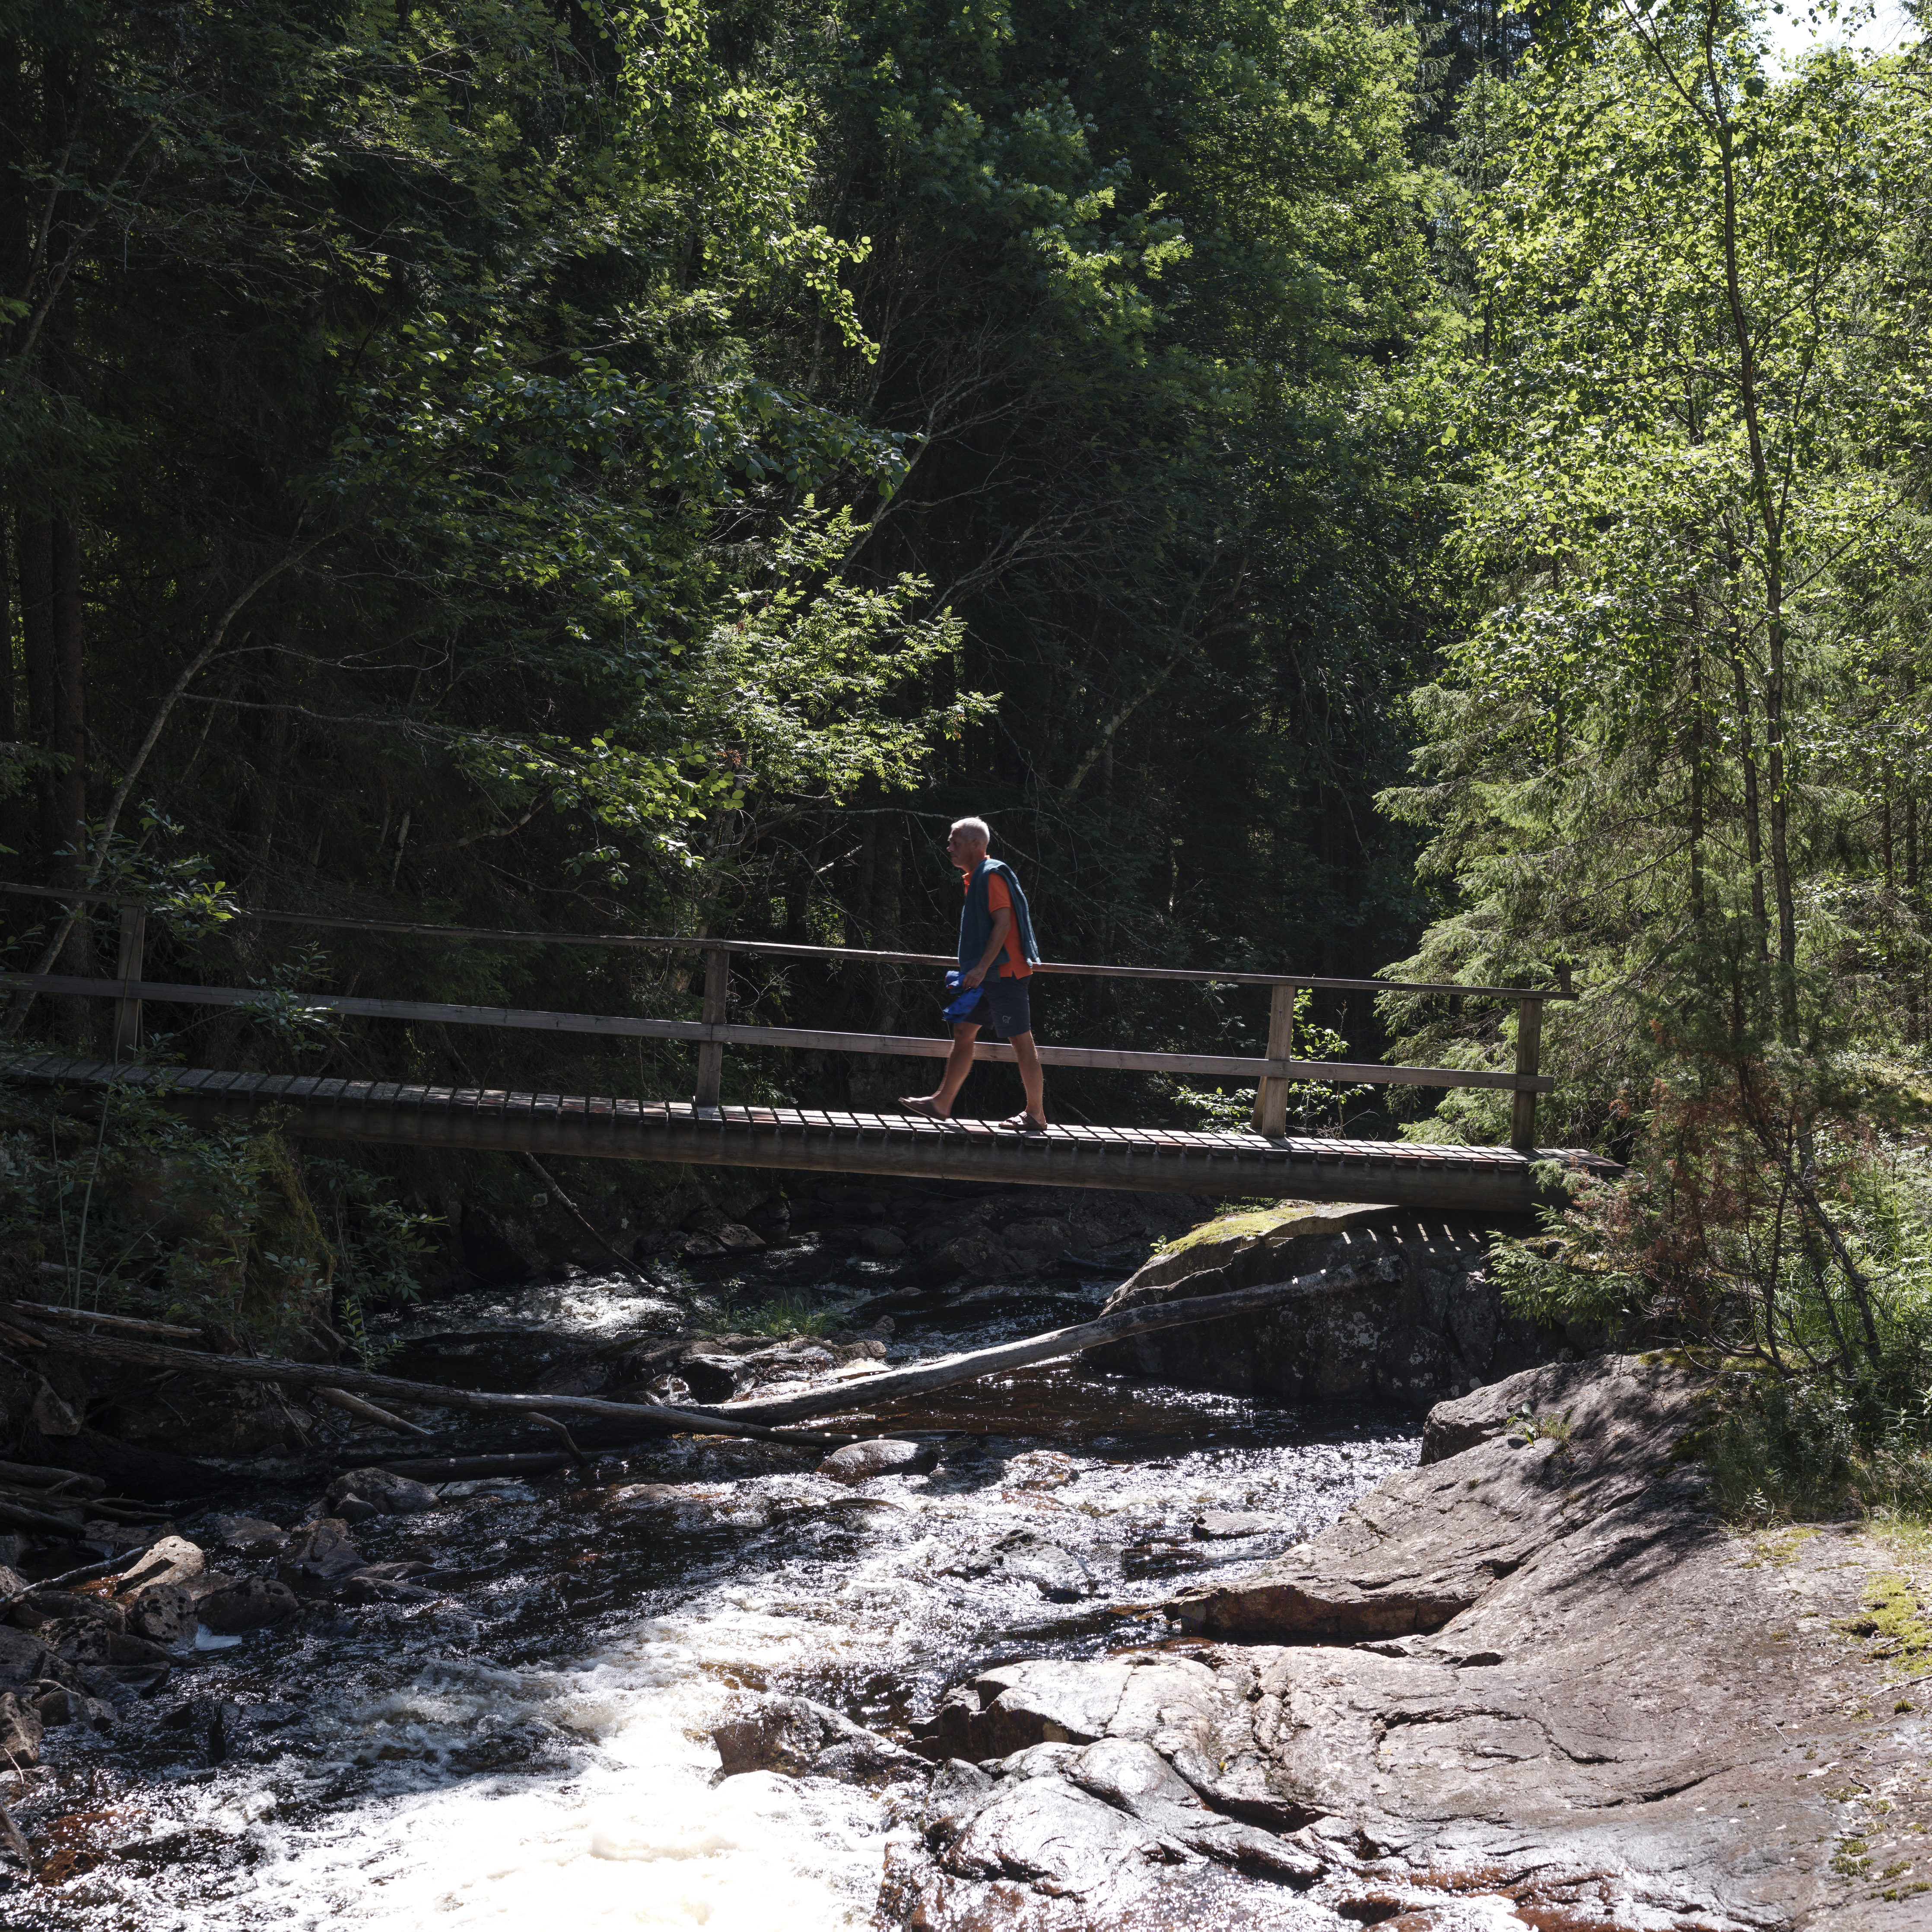
M 891 1356 L 1078 1320 L 1111 1287 L 935 1300 L 898 1318 Z M 674 1318 L 580 1279 L 429 1304 L 408 1333 L 448 1379 L 527 1385 Z M 48 1733 L 29 1793 L 58 1814 L 56 1857 L 0 1918 L 867 1926 L 887 1843 L 916 1818 L 858 1785 L 721 1779 L 709 1727 L 736 1690 L 802 1692 L 902 1739 L 972 1669 L 1171 1638 L 1151 1605 L 1177 1584 L 1279 1553 L 1416 1455 L 1387 1412 L 1068 1364 L 943 1391 L 893 1426 L 951 1432 L 941 1466 L 854 1490 L 798 1449 L 678 1439 L 359 1524 L 369 1561 L 429 1561 L 433 1596 L 313 1605 L 203 1652 L 133 1721 Z M 224 1507 L 294 1524 L 313 1492 L 263 1484 Z

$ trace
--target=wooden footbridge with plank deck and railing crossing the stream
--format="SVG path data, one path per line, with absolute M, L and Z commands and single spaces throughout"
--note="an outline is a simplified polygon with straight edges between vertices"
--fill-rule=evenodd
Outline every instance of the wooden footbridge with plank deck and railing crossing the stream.
M 83 898 L 114 902 L 106 895 L 70 895 L 44 887 L 0 885 L 0 893 L 60 898 L 70 904 Z M 1256 1103 L 1250 1128 L 1246 1132 L 1184 1132 L 1177 1128 L 1053 1126 L 1047 1134 L 1012 1134 L 981 1121 L 931 1121 L 904 1113 L 721 1105 L 719 1086 L 726 1047 L 900 1055 L 906 1059 L 945 1059 L 949 1051 L 949 1041 L 943 1037 L 835 1034 L 732 1022 L 730 966 L 734 956 L 777 954 L 819 962 L 952 966 L 954 960 L 945 954 L 630 933 L 506 933 L 298 912 L 247 912 L 243 916 L 267 923 L 433 937 L 444 943 L 574 945 L 701 954 L 701 1018 L 655 1020 L 618 1012 L 543 1012 L 336 993 L 265 995 L 261 989 L 155 981 L 143 978 L 147 908 L 120 902 L 120 958 L 112 980 L 71 974 L 0 974 L 0 985 L 15 989 L 15 1024 L 21 1005 L 37 995 L 112 1001 L 114 1057 L 75 1059 L 15 1049 L 12 1059 L 0 1063 L 0 1078 L 29 1088 L 66 1090 L 81 1095 L 99 1094 L 114 1084 L 133 1084 L 155 1092 L 168 1107 L 201 1122 L 247 1121 L 272 1109 L 282 1130 L 298 1138 L 587 1155 L 618 1161 L 684 1161 L 709 1167 L 914 1175 L 1028 1186 L 1387 1202 L 1403 1208 L 1476 1213 L 1522 1213 L 1534 1206 L 1534 1165 L 1538 1161 L 1607 1167 L 1607 1163 L 1578 1150 L 1534 1146 L 1536 1097 L 1548 1094 L 1555 1084 L 1538 1070 L 1542 1009 L 1546 1001 L 1569 997 L 1553 989 L 1408 985 L 1383 980 L 1325 980 L 1306 974 L 1188 972 L 1155 966 L 1045 962 L 1036 972 L 1265 985 L 1271 989 L 1267 1051 L 1264 1057 L 1252 1059 L 1043 1045 L 1039 1059 L 1047 1066 L 1254 1082 Z M 1511 1001 L 1517 1007 L 1517 1065 L 1501 1072 L 1296 1061 L 1291 1057 L 1294 995 L 1304 987 L 1362 993 L 1418 991 Z M 139 1059 L 147 1005 L 261 1010 L 270 999 L 278 1005 L 296 1003 L 315 1012 L 404 1024 L 512 1028 L 614 1041 L 688 1041 L 696 1047 L 696 1094 L 690 1101 L 620 1099 L 595 1094 L 522 1094 L 498 1088 L 149 1066 Z M 974 1057 L 1010 1063 L 1012 1049 L 980 1043 Z M 1306 1082 L 1501 1088 L 1513 1095 L 1513 1144 L 1507 1148 L 1464 1148 L 1293 1136 L 1287 1132 L 1289 1088 Z

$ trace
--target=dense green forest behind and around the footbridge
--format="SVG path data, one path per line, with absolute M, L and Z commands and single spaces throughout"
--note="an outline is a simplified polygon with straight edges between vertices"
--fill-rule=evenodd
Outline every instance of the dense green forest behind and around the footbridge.
M 983 813 L 1049 958 L 1573 995 L 1542 1138 L 1627 1177 L 1509 1250 L 1520 1306 L 1762 1372 L 1793 1484 L 1924 1484 L 1917 44 L 1781 54 L 1735 0 L 8 0 L 0 39 L 0 846 L 155 908 L 153 978 L 263 991 L 156 1055 L 686 1094 L 668 1047 L 294 999 L 694 1018 L 676 956 L 251 914 L 951 951 Z M 112 970 L 110 908 L 0 920 L 14 972 Z M 782 962 L 730 1001 L 941 1005 Z M 106 1024 L 15 995 L 8 1051 Z M 1039 1024 L 1254 1053 L 1265 1010 L 1080 980 Z M 1482 1001 L 1306 1024 L 1513 1065 Z M 908 1078 L 734 1055 L 726 1097 Z M 58 1260 L 108 1126 L 29 1115 L 8 1252 Z M 1488 1090 L 1304 1107 L 1343 1119 L 1507 1138 Z M 118 1171 L 269 1184 L 166 1132 Z M 404 1291 L 448 1173 L 315 1165 Z

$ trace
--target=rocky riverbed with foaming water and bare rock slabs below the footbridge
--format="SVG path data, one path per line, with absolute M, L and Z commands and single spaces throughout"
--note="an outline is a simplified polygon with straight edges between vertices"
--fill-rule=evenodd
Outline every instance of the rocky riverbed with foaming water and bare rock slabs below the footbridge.
M 471 1385 L 858 1399 L 1095 1312 L 1115 1281 L 1074 1256 L 945 1285 L 854 1244 L 838 1325 L 790 1343 L 694 1323 L 721 1273 L 696 1308 L 473 1289 L 392 1339 Z M 1376 1335 L 1480 1321 L 1480 1265 L 1443 1265 L 1397 1256 L 1372 1333 L 1349 1264 L 1323 1333 L 1362 1393 Z M 1420 1430 L 1080 1362 L 838 1451 L 526 1430 L 469 1447 L 531 1466 L 433 1486 L 384 1464 L 448 1430 L 255 1459 L 122 1524 L 112 1578 L 54 1588 L 71 1542 L 15 1542 L 6 1922 L 1924 1926 L 1920 1567 L 1855 1524 L 1721 1530 L 1706 1414 L 1617 1356 Z

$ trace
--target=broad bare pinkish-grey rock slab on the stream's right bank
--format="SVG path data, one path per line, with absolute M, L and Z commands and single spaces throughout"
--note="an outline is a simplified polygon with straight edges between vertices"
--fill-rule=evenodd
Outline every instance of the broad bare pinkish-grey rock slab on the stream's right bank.
M 1530 1370 L 1173 1602 L 1217 1640 L 978 1673 L 885 1922 L 1918 1932 L 1932 1719 L 1859 1654 L 1835 1532 L 1712 1519 L 1704 1414 L 1665 1364 Z

